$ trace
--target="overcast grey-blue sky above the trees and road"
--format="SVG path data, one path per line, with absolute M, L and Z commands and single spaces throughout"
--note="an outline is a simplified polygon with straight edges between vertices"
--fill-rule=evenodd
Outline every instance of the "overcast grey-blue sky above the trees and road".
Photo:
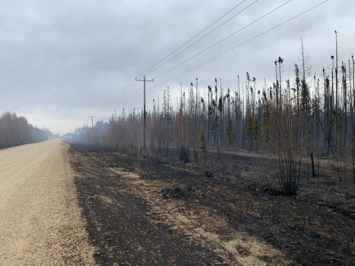
M 254 1 L 244 1 L 193 41 Z M 128 90 L 129 86 L 117 101 L 98 112 L 137 75 L 240 2 L 242 0 L 2 0 L 0 111 L 16 112 L 27 117 L 29 123 L 40 128 L 48 127 L 53 133 L 64 134 L 83 123 L 91 123 L 88 116 L 93 113 L 96 118 L 103 115 L 104 120 L 107 120 L 114 107 L 119 113 L 122 108 L 140 108 L 143 96 L 137 96 L 138 93 L 131 95 L 140 89 L 142 83 Z M 256 1 L 186 51 L 149 73 L 147 79 L 157 77 L 285 2 L 287 0 Z M 147 89 L 321 2 L 323 0 L 293 0 L 192 60 L 157 77 L 154 83 L 147 84 Z M 148 90 L 147 105 L 152 106 L 153 98 L 157 99 L 158 94 L 161 97 L 166 86 L 173 93 L 175 103 L 180 82 L 186 88 L 190 82 L 195 83 L 196 78 L 201 89 L 207 88 L 208 84 L 213 85 L 217 77 L 222 78 L 224 89 L 229 87 L 233 90 L 237 75 L 244 82 L 246 71 L 257 79 L 257 89 L 262 89 L 264 78 L 269 86 L 272 85 L 273 62 L 278 56 L 284 59 L 284 79 L 293 78 L 301 37 L 309 52 L 313 70 L 321 78 L 322 67 L 328 67 L 331 55 L 335 54 L 335 29 L 338 31 L 340 59 L 347 61 L 354 50 L 354 11 L 353 0 L 330 0 L 195 70 Z

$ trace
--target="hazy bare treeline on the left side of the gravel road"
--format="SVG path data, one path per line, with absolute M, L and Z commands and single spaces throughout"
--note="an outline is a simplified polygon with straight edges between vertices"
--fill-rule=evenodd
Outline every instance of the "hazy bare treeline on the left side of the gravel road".
M 4 112 L 0 116 L 0 148 L 21 144 L 42 142 L 50 138 L 58 138 L 48 129 L 39 129 L 27 122 L 23 116 L 16 113 Z

